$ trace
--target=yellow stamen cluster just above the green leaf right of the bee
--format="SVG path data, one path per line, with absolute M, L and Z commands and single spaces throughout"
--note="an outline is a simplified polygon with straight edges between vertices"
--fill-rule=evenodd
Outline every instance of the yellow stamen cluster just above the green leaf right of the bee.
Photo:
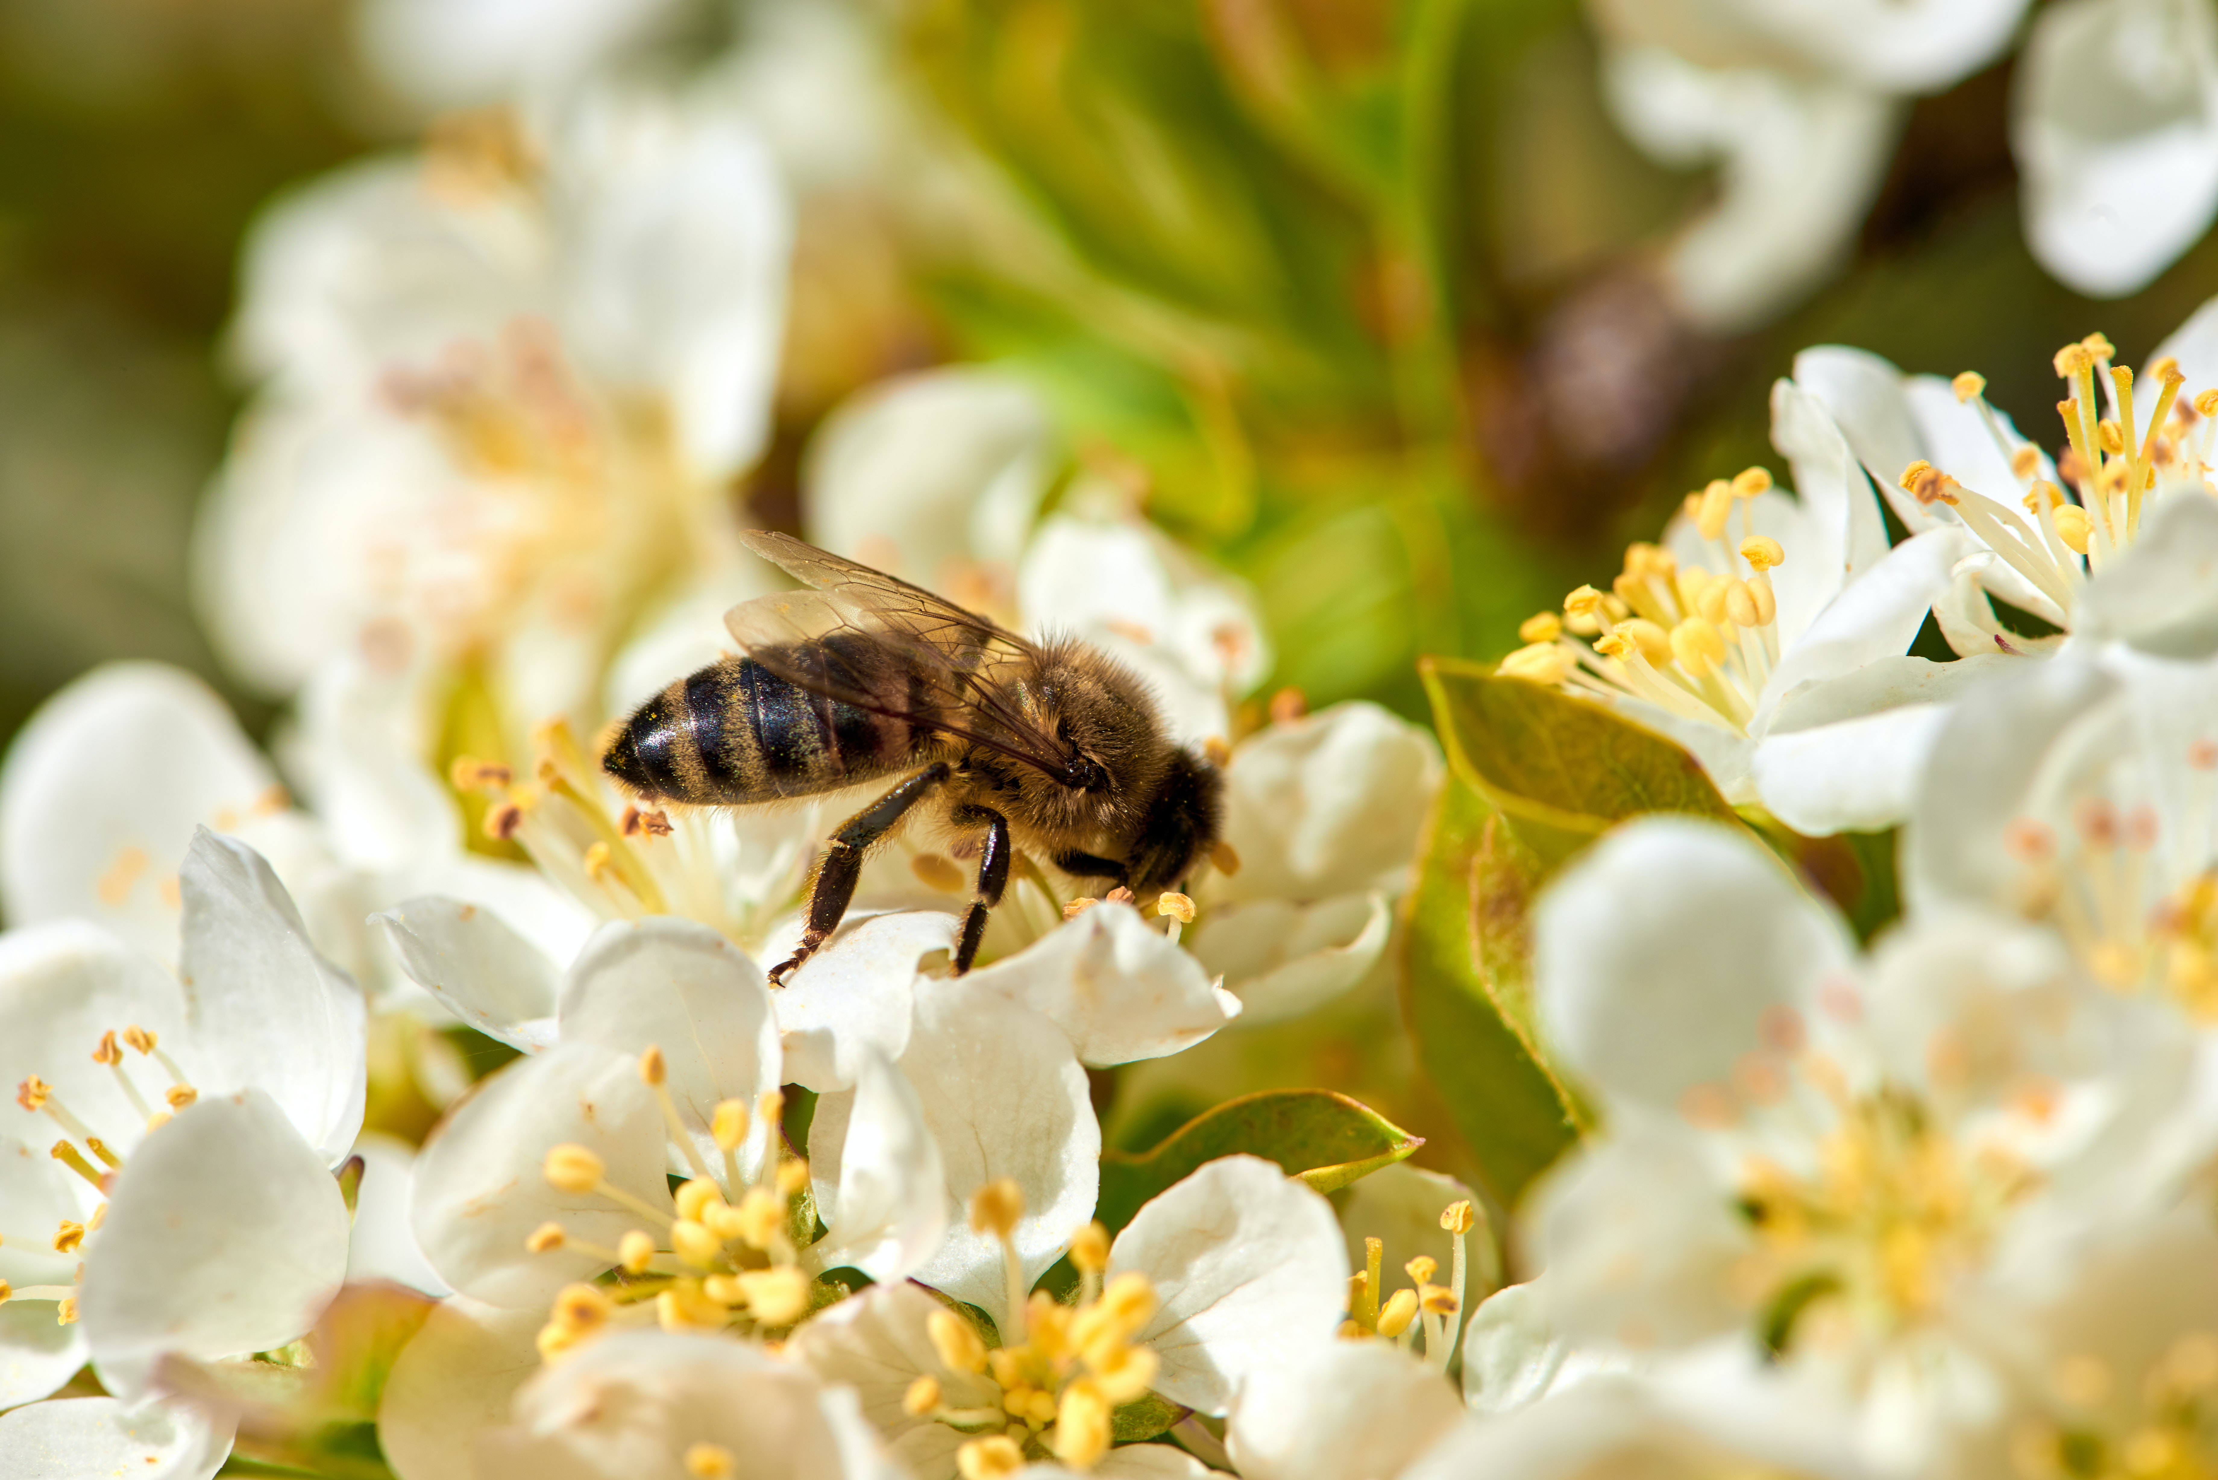
M 1757 535 L 1748 513 L 1748 501 L 1770 486 L 1770 473 L 1748 468 L 1686 495 L 1686 515 L 1717 553 L 1719 572 L 1679 566 L 1661 546 L 1626 546 L 1626 566 L 1610 590 L 1581 586 L 1564 597 L 1561 617 L 1526 619 L 1517 628 L 1526 646 L 1504 657 L 1499 672 L 1604 699 L 1646 699 L 1681 719 L 1746 734 L 1779 666 L 1770 570 L 1785 561 L 1785 550 Z

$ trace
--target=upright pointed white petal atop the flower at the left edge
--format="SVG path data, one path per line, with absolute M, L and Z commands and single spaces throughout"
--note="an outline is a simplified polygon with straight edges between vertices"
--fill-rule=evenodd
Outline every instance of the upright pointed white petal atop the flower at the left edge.
M 337 1165 L 362 1129 L 362 990 L 324 961 L 262 856 L 202 830 L 186 854 L 177 979 L 206 1083 L 257 1087 Z

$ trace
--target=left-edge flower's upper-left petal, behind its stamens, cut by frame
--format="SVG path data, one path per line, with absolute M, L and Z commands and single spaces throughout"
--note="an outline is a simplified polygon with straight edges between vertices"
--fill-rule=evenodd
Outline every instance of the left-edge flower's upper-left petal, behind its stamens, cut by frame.
M 144 954 L 84 921 L 0 934 L 0 1081 L 44 1078 L 69 1112 L 122 1156 L 138 1145 L 146 1112 L 169 1087 L 169 1076 L 151 1061 L 129 1054 L 122 1067 L 140 1089 L 142 1109 L 113 1070 L 93 1063 L 100 1036 L 122 1034 L 133 1023 L 162 1047 L 173 1050 L 184 1036 L 177 983 Z M 24 1118 L 11 1129 L 44 1134 L 33 1129 L 38 1125 Z M 0 1236 L 11 1231 L 0 1229 Z

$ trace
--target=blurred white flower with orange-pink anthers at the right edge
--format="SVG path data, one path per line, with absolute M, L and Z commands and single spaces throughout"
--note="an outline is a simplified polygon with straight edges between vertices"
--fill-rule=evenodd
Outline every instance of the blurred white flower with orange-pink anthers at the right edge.
M 1919 910 L 2052 925 L 2120 992 L 2218 1016 L 2218 663 L 2067 652 L 1972 690 L 1903 832 Z

